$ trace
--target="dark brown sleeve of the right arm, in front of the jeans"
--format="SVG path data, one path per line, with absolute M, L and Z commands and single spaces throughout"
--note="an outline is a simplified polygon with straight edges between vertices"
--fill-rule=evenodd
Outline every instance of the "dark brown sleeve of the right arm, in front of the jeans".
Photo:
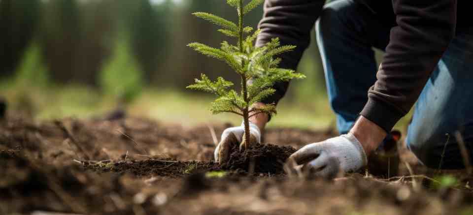
M 361 115 L 389 132 L 409 111 L 455 33 L 456 0 L 393 0 L 398 26 Z

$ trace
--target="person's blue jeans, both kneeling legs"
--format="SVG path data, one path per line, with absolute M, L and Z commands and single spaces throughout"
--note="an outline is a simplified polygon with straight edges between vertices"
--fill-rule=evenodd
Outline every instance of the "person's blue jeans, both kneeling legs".
M 385 50 L 395 25 L 381 20 L 363 4 L 336 0 L 324 7 L 316 23 L 329 100 L 341 134 L 355 122 L 376 81 L 372 48 Z M 431 74 L 415 105 L 407 147 L 428 167 L 464 168 L 455 131 L 461 132 L 473 161 L 473 28 L 457 31 Z

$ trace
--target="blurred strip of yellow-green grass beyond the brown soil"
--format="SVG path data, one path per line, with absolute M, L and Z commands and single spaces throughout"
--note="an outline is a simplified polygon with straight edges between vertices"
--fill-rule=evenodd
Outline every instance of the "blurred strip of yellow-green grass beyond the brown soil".
M 8 84 L 0 87 L 4 89 L 1 95 L 7 99 L 11 111 L 29 115 L 38 121 L 103 117 L 118 105 L 113 95 L 101 94 L 84 86 L 29 87 L 28 90 Z M 202 123 L 236 125 L 241 122 L 241 118 L 232 114 L 212 115 L 208 109 L 213 99 L 213 96 L 201 93 L 146 88 L 126 110 L 132 116 L 183 126 Z M 335 115 L 323 93 L 306 95 L 304 98 L 283 98 L 277 110 L 278 114 L 273 117 L 269 127 L 326 129 L 335 126 Z M 396 127 L 404 129 L 407 120 L 408 117 L 404 118 Z

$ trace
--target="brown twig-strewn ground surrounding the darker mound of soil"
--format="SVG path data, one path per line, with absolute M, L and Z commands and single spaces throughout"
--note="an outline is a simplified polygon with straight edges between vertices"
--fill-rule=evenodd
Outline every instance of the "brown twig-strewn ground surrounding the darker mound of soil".
M 229 125 L 212 126 L 220 133 Z M 269 129 L 266 142 L 281 145 L 236 150 L 220 166 L 212 162 L 215 146 L 207 126 L 137 118 L 34 123 L 8 116 L 0 121 L 0 214 L 472 213 L 473 195 L 463 182 L 433 189 L 422 187 L 432 181 L 407 173 L 334 181 L 284 174 L 282 163 L 295 149 L 333 135 Z M 402 158 L 415 174 L 423 173 L 411 155 Z M 207 177 L 209 171 L 227 175 Z

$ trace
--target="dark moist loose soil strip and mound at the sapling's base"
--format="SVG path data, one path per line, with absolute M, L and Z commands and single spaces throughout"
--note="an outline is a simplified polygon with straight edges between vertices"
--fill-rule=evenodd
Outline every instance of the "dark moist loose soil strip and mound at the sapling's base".
M 223 164 L 212 161 L 178 161 L 170 158 L 118 162 L 84 161 L 83 163 L 87 169 L 99 172 L 125 172 L 136 176 L 183 177 L 196 172 L 215 170 L 230 170 L 254 175 L 279 175 L 284 173 L 284 161 L 295 151 L 293 147 L 258 144 L 242 152 L 233 149 L 230 160 Z

